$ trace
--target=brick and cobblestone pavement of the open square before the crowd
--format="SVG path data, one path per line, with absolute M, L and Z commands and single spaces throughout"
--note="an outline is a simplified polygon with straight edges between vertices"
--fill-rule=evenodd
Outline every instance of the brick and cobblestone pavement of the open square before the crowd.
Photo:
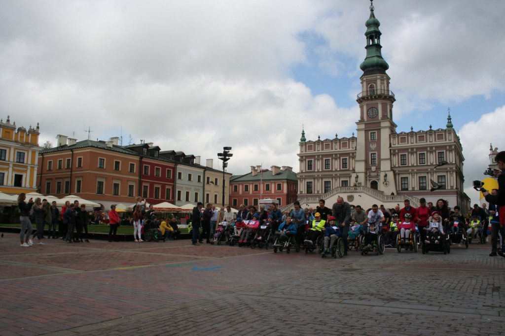
M 503 334 L 505 258 L 0 239 L 0 335 Z

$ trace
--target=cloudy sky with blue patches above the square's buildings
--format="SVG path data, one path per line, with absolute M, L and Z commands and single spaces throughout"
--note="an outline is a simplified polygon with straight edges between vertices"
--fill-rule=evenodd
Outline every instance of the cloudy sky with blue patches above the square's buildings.
M 291 165 L 308 139 L 356 130 L 368 0 L 0 0 L 0 117 L 41 142 L 123 137 L 229 171 Z M 444 128 L 467 187 L 505 149 L 505 2 L 376 0 L 397 131 Z M 477 200 L 477 193 L 466 192 Z

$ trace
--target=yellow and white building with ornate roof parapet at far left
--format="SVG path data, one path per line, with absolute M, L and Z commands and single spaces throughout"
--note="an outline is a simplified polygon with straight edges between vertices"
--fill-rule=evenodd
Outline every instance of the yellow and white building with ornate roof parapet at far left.
M 0 191 L 8 194 L 28 193 L 37 190 L 37 160 L 39 126 L 16 129 L 0 120 Z

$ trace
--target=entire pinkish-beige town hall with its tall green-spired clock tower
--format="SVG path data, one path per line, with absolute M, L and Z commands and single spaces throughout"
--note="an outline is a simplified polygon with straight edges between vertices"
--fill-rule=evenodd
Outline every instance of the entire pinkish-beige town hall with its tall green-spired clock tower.
M 304 203 L 316 204 L 319 198 L 328 202 L 346 196 L 351 204 L 359 204 L 355 201 L 359 198 L 386 207 L 404 198 L 410 198 L 414 205 L 421 197 L 433 203 L 443 198 L 450 206 L 466 208 L 464 157 L 450 113 L 445 128 L 430 126 L 426 131 L 414 131 L 411 127 L 410 131 L 397 132 L 393 121 L 395 97 L 386 73 L 389 65 L 382 58 L 380 23 L 373 5 L 365 25 L 367 54 L 360 65 L 363 75 L 357 95 L 357 135 L 313 141 L 307 140 L 302 130 L 298 197 Z M 434 186 L 438 188 L 431 192 Z

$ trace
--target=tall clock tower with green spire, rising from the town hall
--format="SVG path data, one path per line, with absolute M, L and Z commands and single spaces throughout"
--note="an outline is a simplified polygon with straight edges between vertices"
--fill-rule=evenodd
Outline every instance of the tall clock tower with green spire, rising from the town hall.
M 356 174 L 358 185 L 378 189 L 389 195 L 396 194 L 391 170 L 389 136 L 396 133 L 393 122 L 394 94 L 389 90 L 389 65 L 382 58 L 379 20 L 375 18 L 373 0 L 370 5 L 370 18 L 365 23 L 367 55 L 360 65 L 361 93 L 360 120 L 356 123 L 358 145 L 356 152 Z M 389 178 L 388 178 L 389 177 Z

